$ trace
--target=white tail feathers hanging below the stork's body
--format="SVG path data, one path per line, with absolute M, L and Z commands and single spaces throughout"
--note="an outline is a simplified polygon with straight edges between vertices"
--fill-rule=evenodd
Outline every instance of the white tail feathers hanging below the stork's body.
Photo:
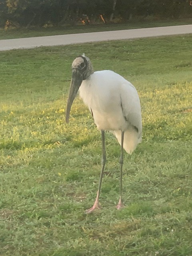
M 113 131 L 113 134 L 116 136 L 119 144 L 121 145 L 121 130 Z M 131 128 L 124 132 L 123 147 L 128 154 L 132 154 L 132 152 L 136 149 L 137 144 L 140 142 L 141 137 L 138 138 L 138 132 L 136 132 L 134 128 Z

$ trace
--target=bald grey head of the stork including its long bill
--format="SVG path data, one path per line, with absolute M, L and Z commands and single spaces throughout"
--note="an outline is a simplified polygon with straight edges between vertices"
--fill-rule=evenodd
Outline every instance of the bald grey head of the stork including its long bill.
M 83 80 L 86 80 L 93 74 L 93 67 L 90 59 L 83 54 L 74 59 L 72 63 L 72 78 L 69 90 L 69 97 L 66 109 L 66 122 L 69 122 L 69 115 L 74 98 L 77 95 L 79 87 Z

